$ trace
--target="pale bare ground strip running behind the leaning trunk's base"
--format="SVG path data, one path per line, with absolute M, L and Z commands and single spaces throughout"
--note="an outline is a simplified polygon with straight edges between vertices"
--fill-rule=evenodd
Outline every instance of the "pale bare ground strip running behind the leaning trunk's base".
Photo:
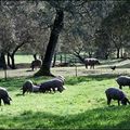
M 37 69 L 38 70 L 38 69 Z M 32 76 L 37 70 L 31 72 L 29 68 L 22 69 L 10 69 L 6 72 L 8 77 L 21 77 L 21 76 Z M 104 75 L 104 74 L 117 74 L 117 75 L 130 75 L 130 68 L 117 68 L 112 70 L 109 68 L 95 68 L 95 69 L 86 69 L 84 66 L 77 67 L 55 67 L 51 69 L 52 74 L 55 76 L 88 76 L 88 75 Z M 4 78 L 4 72 L 0 70 L 0 78 Z

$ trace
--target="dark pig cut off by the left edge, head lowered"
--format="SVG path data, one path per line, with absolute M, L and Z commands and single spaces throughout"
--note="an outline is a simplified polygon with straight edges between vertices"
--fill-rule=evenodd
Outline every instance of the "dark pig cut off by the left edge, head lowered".
M 8 104 L 10 105 L 10 101 L 12 99 L 9 96 L 6 89 L 0 87 L 0 105 L 1 105 L 1 100 L 3 101 L 4 105 Z

